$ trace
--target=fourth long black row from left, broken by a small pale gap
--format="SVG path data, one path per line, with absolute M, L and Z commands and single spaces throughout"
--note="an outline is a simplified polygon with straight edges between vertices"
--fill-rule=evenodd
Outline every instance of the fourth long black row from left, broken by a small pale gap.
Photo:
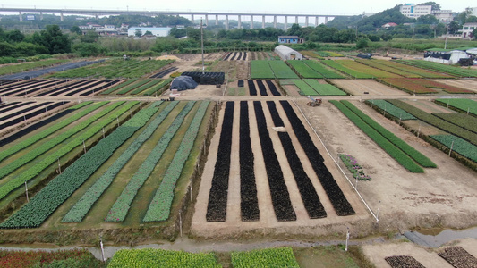
M 278 114 L 275 102 L 268 101 L 267 105 L 275 127 L 285 127 L 280 115 Z M 321 201 L 319 201 L 318 194 L 311 183 L 310 177 L 308 177 L 308 174 L 303 169 L 302 161 L 296 154 L 292 139 L 287 132 L 278 132 L 278 138 L 280 138 L 282 147 L 284 148 L 286 159 L 288 160 L 290 169 L 294 174 L 294 180 L 296 181 L 296 185 L 300 191 L 300 196 L 302 197 L 303 205 L 308 215 L 311 219 L 326 217 L 327 213 L 325 208 L 321 204 Z

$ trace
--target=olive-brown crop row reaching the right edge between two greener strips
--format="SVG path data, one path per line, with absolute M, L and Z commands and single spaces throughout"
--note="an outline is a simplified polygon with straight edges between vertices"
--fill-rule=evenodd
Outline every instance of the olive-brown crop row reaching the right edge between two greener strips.
M 434 127 L 449 132 L 450 134 L 454 134 L 457 137 L 464 138 L 467 141 L 470 141 L 474 145 L 477 145 L 477 134 L 473 133 L 472 131 L 465 130 L 453 123 L 448 121 L 442 120 L 437 116 L 434 116 L 430 113 L 426 113 L 419 108 L 416 108 L 413 105 L 408 105 L 403 101 L 400 100 L 388 100 L 393 105 L 405 110 L 407 113 L 413 114 L 416 118 L 421 121 L 425 121 Z

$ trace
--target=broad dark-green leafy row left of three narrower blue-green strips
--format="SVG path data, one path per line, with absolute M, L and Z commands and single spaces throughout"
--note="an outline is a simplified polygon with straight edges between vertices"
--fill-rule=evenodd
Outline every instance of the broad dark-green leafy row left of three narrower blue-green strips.
M 117 112 L 124 113 L 131 105 L 137 105 L 137 103 L 128 103 Z M 109 119 L 113 121 L 115 116 L 116 114 L 111 114 Z M 81 184 L 88 180 L 89 176 L 96 172 L 124 141 L 141 128 L 140 122 L 135 117 L 132 117 L 131 121 L 134 121 L 134 123 L 131 125 L 127 122 L 124 123 L 123 126 L 118 127 L 106 138 L 101 139 L 86 154 L 81 155 L 63 173 L 51 180 L 45 188 L 42 188 L 35 197 L 32 197 L 29 203 L 23 205 L 20 210 L 2 222 L 0 228 L 35 228 L 45 222 L 49 215 L 53 214 L 66 199 L 71 197 L 72 193 L 80 188 Z M 141 123 L 144 125 L 146 121 Z M 101 125 L 99 127 L 102 128 Z M 71 148 L 68 149 L 71 150 Z M 21 180 L 20 185 L 22 183 L 23 180 Z

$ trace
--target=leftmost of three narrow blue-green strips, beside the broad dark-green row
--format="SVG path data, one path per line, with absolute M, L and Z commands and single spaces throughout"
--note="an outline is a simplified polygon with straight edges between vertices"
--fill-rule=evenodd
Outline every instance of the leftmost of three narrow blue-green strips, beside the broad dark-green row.
M 144 116 L 149 116 L 150 113 L 156 113 L 156 111 L 158 111 L 158 105 L 160 104 L 161 102 L 156 102 L 149 108 L 142 109 L 141 113 L 144 114 Z M 172 102 L 167 105 L 166 108 L 164 108 L 164 110 L 149 123 L 139 137 L 134 139 L 124 153 L 115 160 L 115 163 L 112 163 L 107 171 L 104 172 L 103 175 L 101 175 L 101 177 L 99 177 L 99 179 L 83 194 L 80 200 L 72 206 L 70 211 L 64 216 L 62 222 L 81 222 L 83 220 L 91 207 L 98 201 L 98 198 L 106 191 L 106 188 L 111 185 L 115 176 L 121 171 L 121 169 L 123 169 L 124 165 L 128 163 L 132 158 L 132 155 L 140 149 L 142 144 L 150 138 L 152 133 L 158 129 L 160 123 L 164 121 L 167 114 L 174 109 L 175 105 L 177 105 L 177 102 Z M 139 113 L 137 115 L 139 115 Z

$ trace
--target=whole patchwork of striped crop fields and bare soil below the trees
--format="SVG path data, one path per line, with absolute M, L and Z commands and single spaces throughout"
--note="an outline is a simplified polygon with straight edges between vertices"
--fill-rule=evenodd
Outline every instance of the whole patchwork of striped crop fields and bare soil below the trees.
M 316 267 L 327 243 L 357 266 L 472 264 L 475 239 L 426 251 L 400 235 L 477 225 L 477 69 L 308 58 L 205 54 L 225 81 L 180 91 L 200 54 L 0 77 L 2 244 L 164 246 L 112 267 Z

